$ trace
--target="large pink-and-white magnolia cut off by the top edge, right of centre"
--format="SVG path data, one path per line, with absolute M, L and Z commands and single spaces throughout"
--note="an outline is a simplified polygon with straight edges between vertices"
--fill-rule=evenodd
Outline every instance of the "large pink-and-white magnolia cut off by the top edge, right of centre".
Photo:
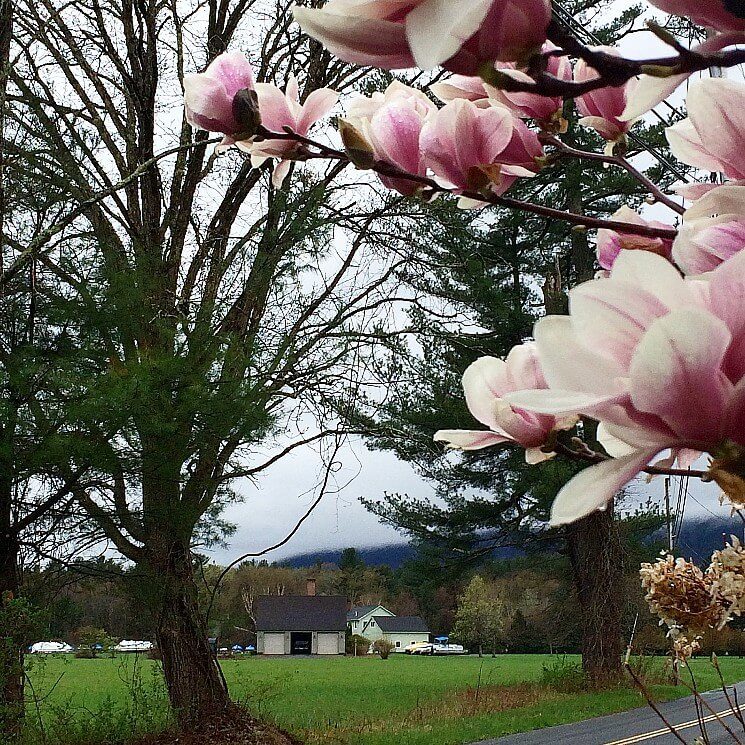
M 329 0 L 295 20 L 347 62 L 386 69 L 439 64 L 467 75 L 516 60 L 546 40 L 550 0 Z

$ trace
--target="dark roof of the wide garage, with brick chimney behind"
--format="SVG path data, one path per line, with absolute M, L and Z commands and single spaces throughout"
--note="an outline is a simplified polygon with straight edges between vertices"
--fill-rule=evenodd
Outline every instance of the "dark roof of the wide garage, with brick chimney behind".
M 346 631 L 347 599 L 336 595 L 260 595 L 257 631 Z

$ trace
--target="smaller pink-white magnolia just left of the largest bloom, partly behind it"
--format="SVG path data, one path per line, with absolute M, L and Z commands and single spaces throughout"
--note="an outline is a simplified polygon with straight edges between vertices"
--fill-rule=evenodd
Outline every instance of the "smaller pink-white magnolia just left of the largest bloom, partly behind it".
M 573 427 L 577 418 L 557 419 L 533 414 L 510 406 L 503 398 L 511 391 L 545 386 L 535 344 L 515 347 L 506 360 L 482 357 L 463 375 L 463 390 L 469 411 L 489 429 L 440 430 L 435 434 L 435 441 L 459 450 L 481 450 L 490 445 L 514 442 L 525 448 L 528 463 L 546 460 L 552 454 L 542 452 L 541 447 L 551 433 Z

